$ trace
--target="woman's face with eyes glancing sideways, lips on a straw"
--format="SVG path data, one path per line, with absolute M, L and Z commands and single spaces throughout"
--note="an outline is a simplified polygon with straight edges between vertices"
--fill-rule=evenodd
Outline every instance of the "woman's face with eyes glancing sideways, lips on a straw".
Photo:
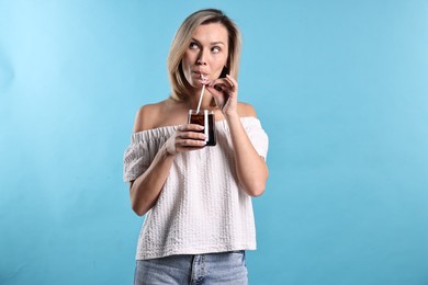
M 195 88 L 202 87 L 202 81 L 217 79 L 226 66 L 227 56 L 226 27 L 221 23 L 200 25 L 181 61 L 185 79 Z

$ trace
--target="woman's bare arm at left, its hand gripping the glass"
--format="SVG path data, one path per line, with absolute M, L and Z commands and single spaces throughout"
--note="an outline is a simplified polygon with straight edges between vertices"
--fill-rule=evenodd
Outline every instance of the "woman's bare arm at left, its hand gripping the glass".
M 134 133 L 147 128 L 148 122 L 153 117 L 150 113 L 150 107 L 143 107 L 138 111 L 134 123 Z M 159 149 L 150 167 L 131 182 L 131 205 L 138 216 L 146 214 L 156 204 L 177 153 L 204 147 L 204 135 L 194 133 L 201 128 L 201 126 L 192 124 L 180 126 L 176 134 Z

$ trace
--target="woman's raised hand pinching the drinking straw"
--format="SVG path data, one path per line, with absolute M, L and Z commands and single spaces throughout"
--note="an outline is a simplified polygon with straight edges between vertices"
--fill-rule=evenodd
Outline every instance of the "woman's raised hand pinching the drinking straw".
M 238 82 L 233 77 L 227 75 L 226 78 L 218 78 L 205 88 L 226 117 L 237 113 Z

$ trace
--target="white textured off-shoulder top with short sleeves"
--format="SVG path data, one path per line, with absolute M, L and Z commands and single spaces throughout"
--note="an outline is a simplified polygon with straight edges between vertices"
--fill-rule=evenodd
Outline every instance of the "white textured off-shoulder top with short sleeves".
M 259 119 L 243 117 L 257 152 L 268 152 L 268 136 Z M 251 197 L 239 189 L 226 121 L 215 123 L 217 145 L 179 153 L 156 205 L 146 214 L 137 260 L 172 254 L 202 254 L 256 249 Z M 150 166 L 177 126 L 132 135 L 124 153 L 124 181 L 133 181 Z

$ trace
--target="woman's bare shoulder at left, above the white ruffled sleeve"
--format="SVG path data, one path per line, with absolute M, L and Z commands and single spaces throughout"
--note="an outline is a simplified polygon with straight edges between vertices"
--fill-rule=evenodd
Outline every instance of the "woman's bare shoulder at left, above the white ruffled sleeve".
M 165 107 L 166 101 L 143 105 L 138 109 L 134 121 L 134 133 L 154 128 L 158 123 L 159 114 Z

